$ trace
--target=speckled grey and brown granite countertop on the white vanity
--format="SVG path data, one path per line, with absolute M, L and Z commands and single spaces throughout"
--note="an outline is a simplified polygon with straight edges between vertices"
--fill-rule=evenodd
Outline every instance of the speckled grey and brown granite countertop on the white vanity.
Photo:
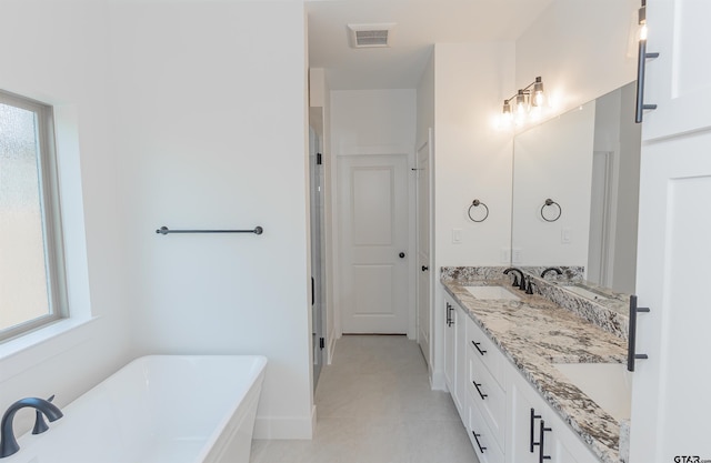
M 627 341 L 541 295 L 521 291 L 520 302 L 479 300 L 464 289 L 510 281 L 443 279 L 442 284 L 589 449 L 604 463 L 619 463 L 620 423 L 552 364 L 623 363 Z

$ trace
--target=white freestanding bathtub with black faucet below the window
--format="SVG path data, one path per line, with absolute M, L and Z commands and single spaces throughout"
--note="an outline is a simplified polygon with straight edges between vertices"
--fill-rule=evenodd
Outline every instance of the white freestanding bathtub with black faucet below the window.
M 248 463 L 266 364 L 259 355 L 137 359 L 0 462 Z

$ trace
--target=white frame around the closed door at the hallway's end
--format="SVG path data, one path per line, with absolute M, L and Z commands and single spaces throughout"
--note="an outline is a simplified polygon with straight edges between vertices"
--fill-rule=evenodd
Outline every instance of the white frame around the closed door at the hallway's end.
M 341 147 L 340 152 L 336 153 L 333 157 L 334 164 L 331 169 L 331 228 L 333 230 L 333 254 L 332 254 L 332 268 L 333 274 L 330 279 L 330 282 L 327 283 L 331 286 L 333 291 L 333 330 L 337 339 L 340 339 L 343 335 L 343 325 L 342 325 L 342 291 L 341 285 L 343 282 L 343 275 L 341 274 L 341 242 L 340 242 L 340 209 L 338 197 L 339 183 L 338 183 L 338 172 L 340 169 L 340 160 L 344 157 L 373 157 L 373 155 L 405 155 L 407 164 L 408 164 L 408 255 L 413 256 L 417 252 L 415 240 L 417 240 L 417 231 L 415 231 L 415 187 L 417 187 L 417 178 L 413 169 L 415 168 L 415 152 L 412 147 L 404 145 L 394 145 L 394 144 L 384 144 L 384 145 L 370 145 L 370 147 L 359 147 L 359 145 L 348 145 Z M 417 259 L 415 259 L 417 260 Z M 415 265 L 412 263 L 412 258 L 408 261 L 408 339 L 415 340 L 418 334 L 417 328 L 417 306 L 415 306 L 415 294 L 414 289 L 415 285 Z M 415 262 L 417 263 L 417 262 Z

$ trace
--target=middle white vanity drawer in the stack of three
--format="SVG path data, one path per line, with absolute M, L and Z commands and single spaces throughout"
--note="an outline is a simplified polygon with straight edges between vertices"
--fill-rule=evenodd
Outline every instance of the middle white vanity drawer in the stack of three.
M 468 352 L 468 390 L 471 401 L 501 449 L 505 444 L 507 395 L 477 352 Z

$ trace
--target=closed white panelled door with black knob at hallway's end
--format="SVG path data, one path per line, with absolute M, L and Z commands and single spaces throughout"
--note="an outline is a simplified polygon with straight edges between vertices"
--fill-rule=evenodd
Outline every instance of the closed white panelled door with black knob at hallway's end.
M 339 159 L 341 328 L 408 332 L 408 158 Z

